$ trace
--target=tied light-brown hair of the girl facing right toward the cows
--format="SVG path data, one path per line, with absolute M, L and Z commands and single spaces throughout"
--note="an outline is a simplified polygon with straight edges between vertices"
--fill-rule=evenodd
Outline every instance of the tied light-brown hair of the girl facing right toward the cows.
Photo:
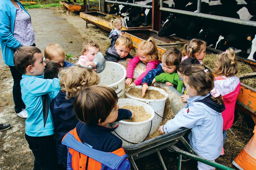
M 182 52 L 182 56 L 194 57 L 196 58 L 195 54 L 201 54 L 204 47 L 206 47 L 206 43 L 203 40 L 192 39 L 189 41 L 188 44 L 185 44 Z

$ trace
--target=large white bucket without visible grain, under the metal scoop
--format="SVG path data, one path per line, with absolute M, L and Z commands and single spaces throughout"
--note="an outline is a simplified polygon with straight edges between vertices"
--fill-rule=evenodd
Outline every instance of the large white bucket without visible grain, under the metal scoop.
M 126 70 L 119 63 L 106 61 L 105 69 L 99 73 L 100 83 L 115 90 L 118 98 L 124 98 Z

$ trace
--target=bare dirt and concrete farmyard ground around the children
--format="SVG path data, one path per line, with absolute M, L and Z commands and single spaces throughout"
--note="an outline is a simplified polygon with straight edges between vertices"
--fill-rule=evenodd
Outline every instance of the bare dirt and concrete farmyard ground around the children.
M 81 55 L 83 42 L 94 40 L 100 46 L 100 51 L 110 45 L 109 32 L 88 24 L 79 17 L 79 13 L 63 12 L 61 8 L 29 9 L 34 28 L 36 46 L 44 54 L 45 47 L 50 43 L 58 43 L 66 54 L 72 57 L 66 59 L 76 62 Z M 134 51 L 133 51 L 133 54 Z M 2 51 L 0 52 L 0 122 L 10 123 L 11 128 L 0 132 L 0 170 L 33 169 L 34 156 L 25 139 L 25 120 L 16 116 L 12 99 L 12 76 L 9 67 L 3 62 Z M 233 127 L 227 131 L 225 143 L 225 156 L 216 162 L 235 168 L 233 159 L 252 137 L 252 130 L 241 126 Z M 176 169 L 177 155 L 166 150 L 161 151 L 168 169 Z M 139 169 L 162 169 L 157 154 L 149 155 L 136 161 Z M 182 169 L 197 169 L 196 161 L 188 161 L 182 164 Z

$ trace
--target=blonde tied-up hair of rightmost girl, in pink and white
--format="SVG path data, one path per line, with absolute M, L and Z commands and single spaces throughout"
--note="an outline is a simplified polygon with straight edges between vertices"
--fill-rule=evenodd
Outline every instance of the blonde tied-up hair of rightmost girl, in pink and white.
M 231 77 L 237 74 L 237 59 L 233 49 L 229 48 L 225 52 L 217 55 L 214 71 L 216 74 L 226 77 Z

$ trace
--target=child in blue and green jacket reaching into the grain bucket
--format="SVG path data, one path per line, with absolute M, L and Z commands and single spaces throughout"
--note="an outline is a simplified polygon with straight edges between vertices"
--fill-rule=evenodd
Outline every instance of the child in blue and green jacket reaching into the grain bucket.
M 147 73 L 147 75 L 142 79 L 142 97 L 145 96 L 148 86 L 155 83 L 155 77 L 161 73 L 173 74 L 170 76 L 175 77 L 175 81 L 178 82 L 178 74 L 174 73 L 177 66 L 181 61 L 181 51 L 176 47 L 170 47 L 167 49 L 162 57 L 162 63 L 160 63 L 156 69 L 153 69 Z M 173 82 L 170 82 L 173 83 Z M 183 83 L 179 82 L 179 88 L 182 89 Z M 166 85 L 170 85 L 166 82 Z

